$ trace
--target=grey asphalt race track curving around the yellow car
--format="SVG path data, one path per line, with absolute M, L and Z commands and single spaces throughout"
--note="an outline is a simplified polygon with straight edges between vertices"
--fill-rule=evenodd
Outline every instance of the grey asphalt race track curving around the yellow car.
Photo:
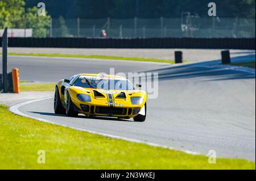
M 53 113 L 53 98 L 19 111 L 70 127 L 112 134 L 207 154 L 255 161 L 255 73 L 193 64 L 170 66 L 108 60 L 9 58 L 22 79 L 55 82 L 76 73 L 150 70 L 159 73 L 159 95 L 147 100 L 144 123 L 105 117 L 76 118 Z M 210 66 L 209 66 L 210 65 Z M 145 153 L 146 154 L 146 153 Z

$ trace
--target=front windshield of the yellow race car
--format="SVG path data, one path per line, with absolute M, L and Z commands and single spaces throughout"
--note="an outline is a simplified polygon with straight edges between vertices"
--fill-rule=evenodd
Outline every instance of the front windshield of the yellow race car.
M 84 77 L 77 78 L 73 86 L 95 89 L 112 89 L 112 90 L 134 90 L 133 85 L 125 79 L 110 79 L 98 77 Z

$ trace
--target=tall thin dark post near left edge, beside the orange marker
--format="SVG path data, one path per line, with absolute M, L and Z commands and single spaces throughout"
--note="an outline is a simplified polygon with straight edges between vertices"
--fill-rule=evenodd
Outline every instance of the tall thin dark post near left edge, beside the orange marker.
M 2 64 L 3 64 L 3 92 L 7 92 L 7 28 L 3 32 L 2 37 Z

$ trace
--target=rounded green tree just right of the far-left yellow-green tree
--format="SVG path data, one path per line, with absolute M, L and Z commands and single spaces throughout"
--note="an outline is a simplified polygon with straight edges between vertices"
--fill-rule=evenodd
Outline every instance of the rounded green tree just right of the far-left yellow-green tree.
M 26 19 L 26 28 L 32 28 L 34 37 L 46 37 L 49 33 L 51 16 L 38 16 L 38 8 L 32 7 L 27 9 L 24 18 Z

